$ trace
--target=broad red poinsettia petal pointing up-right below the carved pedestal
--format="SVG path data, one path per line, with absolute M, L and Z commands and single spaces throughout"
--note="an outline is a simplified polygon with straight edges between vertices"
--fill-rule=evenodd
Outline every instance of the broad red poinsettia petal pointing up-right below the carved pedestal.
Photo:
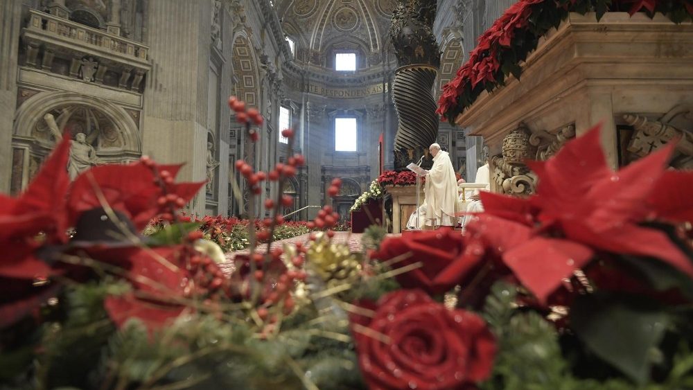
M 662 176 L 673 150 L 673 143 L 665 145 L 595 183 L 576 208 L 580 218 L 595 232 L 642 220 L 647 211 L 645 200 Z

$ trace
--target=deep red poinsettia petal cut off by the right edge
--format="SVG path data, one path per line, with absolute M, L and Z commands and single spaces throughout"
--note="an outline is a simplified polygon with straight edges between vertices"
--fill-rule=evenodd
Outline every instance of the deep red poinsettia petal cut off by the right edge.
M 645 205 L 653 218 L 693 222 L 693 172 L 666 170 Z

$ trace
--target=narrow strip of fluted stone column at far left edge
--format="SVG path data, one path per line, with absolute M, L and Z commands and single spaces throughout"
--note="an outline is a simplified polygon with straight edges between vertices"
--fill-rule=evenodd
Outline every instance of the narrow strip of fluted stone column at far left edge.
M 0 1 L 0 193 L 10 192 L 12 119 L 17 107 L 17 61 L 21 0 Z

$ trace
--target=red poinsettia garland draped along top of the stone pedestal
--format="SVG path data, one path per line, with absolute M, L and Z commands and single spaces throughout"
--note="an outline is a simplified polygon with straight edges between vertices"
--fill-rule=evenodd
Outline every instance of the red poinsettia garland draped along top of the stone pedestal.
M 509 75 L 519 80 L 521 62 L 570 12 L 596 12 L 600 19 L 607 11 L 660 12 L 681 23 L 693 19 L 693 0 L 519 0 L 479 37 L 469 60 L 444 85 L 437 114 L 452 124 L 483 91 L 502 87 Z

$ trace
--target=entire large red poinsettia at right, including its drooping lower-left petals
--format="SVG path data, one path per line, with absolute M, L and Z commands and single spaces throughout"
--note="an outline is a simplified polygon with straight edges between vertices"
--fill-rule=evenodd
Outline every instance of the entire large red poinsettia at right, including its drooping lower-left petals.
M 693 263 L 665 233 L 639 225 L 646 216 L 691 215 L 692 189 L 681 184 L 693 183 L 693 173 L 665 171 L 672 145 L 613 172 L 599 143 L 600 128 L 570 141 L 548 161 L 529 163 L 539 178 L 529 200 L 482 194 L 485 213 L 467 227 L 499 248 L 505 265 L 541 302 L 597 249 L 659 258 L 693 276 Z M 664 186 L 674 180 L 677 186 Z M 554 230 L 564 238 L 544 235 Z

